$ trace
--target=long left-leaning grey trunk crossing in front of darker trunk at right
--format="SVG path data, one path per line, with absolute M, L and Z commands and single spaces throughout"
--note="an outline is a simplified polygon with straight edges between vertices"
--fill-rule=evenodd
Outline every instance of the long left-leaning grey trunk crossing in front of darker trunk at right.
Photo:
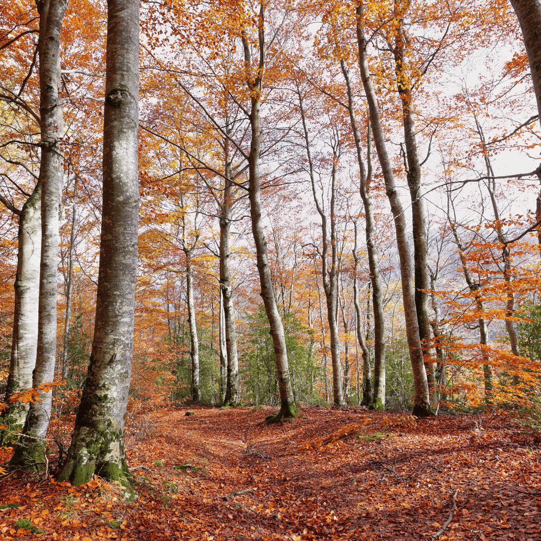
M 393 169 L 385 146 L 385 137 L 381 128 L 379 117 L 378 100 L 375 95 L 370 71 L 368 70 L 368 55 L 366 51 L 366 39 L 362 31 L 363 4 L 359 4 L 357 13 L 357 42 L 359 47 L 359 68 L 362 85 L 368 101 L 370 123 L 374 135 L 374 143 L 378 153 L 381 172 L 385 180 L 385 189 L 393 213 L 395 232 L 397 236 L 397 248 L 400 259 L 400 276 L 402 282 L 402 297 L 404 305 L 404 319 L 406 322 L 406 336 L 413 373 L 415 388 L 414 415 L 428 415 L 430 410 L 430 396 L 428 394 L 428 381 L 426 379 L 425 365 L 423 362 L 423 349 L 419 340 L 419 325 L 415 308 L 415 289 L 412 280 L 410 246 L 407 240 L 407 224 L 404 209 L 394 183 Z

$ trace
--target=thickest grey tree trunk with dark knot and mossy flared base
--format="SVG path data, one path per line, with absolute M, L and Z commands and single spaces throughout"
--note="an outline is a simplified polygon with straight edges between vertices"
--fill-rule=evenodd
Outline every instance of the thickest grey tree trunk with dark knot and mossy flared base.
M 108 0 L 103 210 L 94 341 L 71 446 L 58 478 L 128 485 L 124 437 L 137 278 L 139 3 Z

